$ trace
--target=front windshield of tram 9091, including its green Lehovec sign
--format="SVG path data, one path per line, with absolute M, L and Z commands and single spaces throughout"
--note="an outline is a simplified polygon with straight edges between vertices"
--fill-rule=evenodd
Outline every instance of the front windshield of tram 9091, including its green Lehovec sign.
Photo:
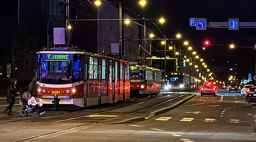
M 69 84 L 82 77 L 81 55 L 38 54 L 37 67 L 37 76 L 45 84 Z

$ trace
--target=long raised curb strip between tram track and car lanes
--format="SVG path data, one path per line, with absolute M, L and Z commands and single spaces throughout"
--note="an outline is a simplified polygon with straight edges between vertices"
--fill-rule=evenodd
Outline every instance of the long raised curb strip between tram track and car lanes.
M 166 108 L 162 108 L 160 110 L 155 110 L 153 112 L 150 112 L 150 114 L 147 117 L 133 117 L 133 118 L 128 118 L 128 119 L 124 119 L 121 121 L 117 121 L 117 122 L 113 122 L 113 123 L 102 123 L 102 124 L 120 124 L 120 123 L 133 123 L 136 121 L 143 121 L 143 120 L 147 120 L 149 118 L 154 117 L 155 115 L 159 115 L 159 114 L 163 114 L 165 112 L 168 112 L 169 110 L 172 110 L 173 108 L 176 108 L 178 105 L 180 105 L 181 103 L 184 103 L 185 101 L 188 101 L 189 99 L 191 99 L 192 97 L 195 97 L 196 95 L 191 95 L 189 97 L 186 97 L 180 101 L 178 101 L 177 103 L 174 103 L 173 105 L 166 107 Z

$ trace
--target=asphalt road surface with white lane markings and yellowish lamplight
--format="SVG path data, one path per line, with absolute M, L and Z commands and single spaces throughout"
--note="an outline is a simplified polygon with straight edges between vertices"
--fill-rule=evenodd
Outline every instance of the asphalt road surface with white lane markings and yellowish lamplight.
M 184 93 L 186 94 L 186 93 Z M 57 133 L 49 133 L 47 135 L 23 141 L 90 141 L 90 142 L 256 142 L 256 136 L 252 134 L 252 122 L 255 119 L 256 105 L 246 104 L 245 97 L 240 93 L 218 90 L 217 97 L 204 96 L 197 94 L 189 101 L 177 106 L 173 110 L 154 116 L 148 120 L 137 121 L 134 123 L 121 124 L 104 124 L 93 123 L 91 125 L 83 125 L 72 129 L 65 129 L 82 123 L 93 122 L 97 117 L 88 119 L 83 117 L 89 115 L 90 112 L 100 112 L 107 110 L 108 107 L 100 106 L 76 112 L 67 113 L 65 111 L 51 111 L 46 114 L 56 114 L 51 117 L 42 117 L 36 120 L 36 123 L 31 123 L 31 120 L 25 122 L 15 122 L 0 124 L 2 130 L 9 125 L 8 129 L 16 129 L 19 127 L 27 127 L 31 125 L 40 125 L 43 123 L 52 122 L 50 119 L 61 120 L 61 118 L 72 119 L 81 117 L 66 123 L 54 123 L 52 125 L 42 125 L 39 127 L 24 129 L 21 132 L 27 133 L 27 136 L 19 136 L 15 131 L 12 133 L 0 133 L 0 141 L 15 141 L 21 138 L 38 136 L 41 133 L 53 131 L 54 129 L 62 129 Z M 182 93 L 171 93 L 168 98 L 174 98 Z M 163 97 L 157 99 L 158 97 Z M 149 98 L 131 98 L 128 103 L 117 103 L 110 105 L 115 108 L 115 114 L 124 113 L 130 105 L 135 102 L 143 102 L 156 98 L 157 101 L 152 103 L 160 103 L 163 99 L 168 99 L 164 95 L 159 95 Z M 149 103 L 150 104 L 150 103 Z M 148 104 L 148 105 L 149 105 Z M 169 104 L 167 104 L 169 105 Z M 133 106 L 133 108 L 136 108 Z M 117 111 L 118 110 L 118 111 Z M 150 111 L 150 110 L 149 110 Z M 63 113 L 63 114 L 61 114 Z M 138 113 L 137 115 L 145 115 L 146 112 Z M 149 112 L 148 112 L 149 113 Z M 113 113 L 111 113 L 113 115 Z M 4 114 L 1 114 L 2 117 Z M 58 117 L 57 117 L 58 116 Z M 23 117 L 24 119 L 26 117 Z M 29 118 L 29 117 L 27 117 Z M 10 116 L 9 120 L 17 120 L 18 117 Z M 15 124 L 15 125 L 13 125 Z M 255 128 L 254 128 L 255 129 Z M 31 130 L 31 131 L 29 131 Z M 16 133 L 17 136 L 14 136 Z M 10 137 L 10 138 L 9 138 Z M 4 138 L 4 139 L 3 139 Z

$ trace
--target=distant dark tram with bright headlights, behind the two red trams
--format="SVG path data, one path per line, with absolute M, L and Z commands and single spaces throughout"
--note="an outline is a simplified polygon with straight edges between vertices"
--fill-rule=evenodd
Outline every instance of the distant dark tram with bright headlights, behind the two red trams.
M 168 83 L 165 86 L 165 90 L 183 91 L 195 90 L 196 88 L 195 77 L 186 73 L 170 72 L 167 80 Z

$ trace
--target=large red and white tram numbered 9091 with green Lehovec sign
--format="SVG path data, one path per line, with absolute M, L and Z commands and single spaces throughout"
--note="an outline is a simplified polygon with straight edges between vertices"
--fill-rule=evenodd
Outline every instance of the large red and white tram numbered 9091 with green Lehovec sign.
M 37 101 L 86 107 L 130 98 L 130 63 L 60 47 L 37 52 Z

